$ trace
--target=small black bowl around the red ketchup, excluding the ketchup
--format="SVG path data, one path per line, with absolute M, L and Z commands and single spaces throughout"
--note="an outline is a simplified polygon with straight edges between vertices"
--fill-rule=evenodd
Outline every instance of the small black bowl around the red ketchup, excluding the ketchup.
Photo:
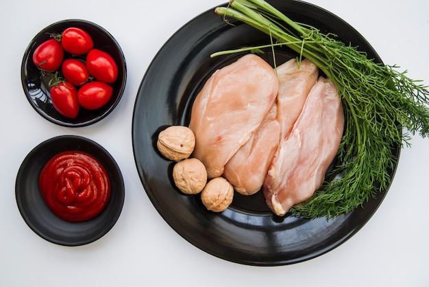
M 66 150 L 93 155 L 106 168 L 111 183 L 108 205 L 101 214 L 84 222 L 67 222 L 53 214 L 38 188 L 40 170 L 51 157 Z M 74 135 L 43 141 L 25 157 L 16 176 L 16 203 L 27 225 L 41 238 L 60 245 L 77 246 L 104 236 L 117 222 L 125 199 L 121 170 L 107 150 L 95 141 Z

